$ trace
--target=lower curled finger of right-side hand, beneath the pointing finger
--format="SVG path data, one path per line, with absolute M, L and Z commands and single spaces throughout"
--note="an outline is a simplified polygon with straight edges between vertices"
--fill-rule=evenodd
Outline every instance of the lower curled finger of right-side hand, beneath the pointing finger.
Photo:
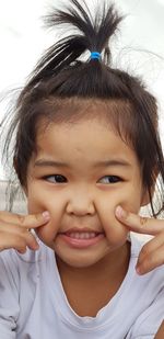
M 139 256 L 136 270 L 139 274 L 145 274 L 162 264 L 164 264 L 164 244 L 153 252 L 149 253 L 148 251 L 148 255 L 143 256 L 142 253 L 141 257 Z

